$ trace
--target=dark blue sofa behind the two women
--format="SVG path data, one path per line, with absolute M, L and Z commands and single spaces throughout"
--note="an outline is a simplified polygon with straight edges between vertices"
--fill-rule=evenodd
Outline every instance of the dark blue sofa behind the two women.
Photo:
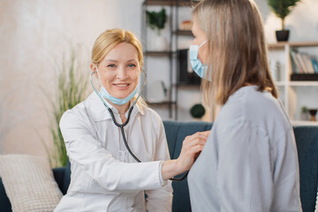
M 211 129 L 206 122 L 164 121 L 171 158 L 180 154 L 182 141 L 189 134 Z M 294 133 L 299 153 L 300 199 L 304 212 L 314 211 L 318 179 L 318 126 L 295 126 Z M 70 167 L 53 170 L 54 177 L 62 193 L 70 184 Z M 0 179 L 1 180 L 1 179 Z M 172 211 L 191 211 L 187 181 L 173 182 Z M 0 181 L 0 211 L 11 211 L 11 204 Z

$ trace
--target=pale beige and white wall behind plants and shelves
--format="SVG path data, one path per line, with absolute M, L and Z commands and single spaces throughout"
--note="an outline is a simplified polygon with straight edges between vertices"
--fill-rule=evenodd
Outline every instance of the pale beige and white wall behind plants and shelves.
M 260 6 L 268 41 L 275 42 L 279 19 L 269 12 L 266 0 L 255 2 Z M 142 0 L 0 1 L 2 154 L 46 155 L 42 140 L 50 144 L 48 98 L 54 95 L 56 68 L 63 54 L 67 55 L 70 44 L 80 44 L 83 72 L 89 72 L 90 50 L 106 28 L 122 27 L 141 38 L 141 3 Z M 318 40 L 316 8 L 316 0 L 303 0 L 286 19 L 287 28 L 292 30 L 291 42 Z M 148 67 L 149 82 L 162 73 L 163 67 Z M 41 87 L 48 90 L 48 96 L 43 95 Z M 201 102 L 199 89 L 180 91 L 178 100 L 179 120 L 191 120 L 187 111 Z M 166 110 L 158 111 L 163 119 L 169 119 Z

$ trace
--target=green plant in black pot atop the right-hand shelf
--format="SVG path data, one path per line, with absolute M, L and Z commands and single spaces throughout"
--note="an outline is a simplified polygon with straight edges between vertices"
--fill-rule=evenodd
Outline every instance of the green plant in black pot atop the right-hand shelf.
M 284 19 L 292 12 L 292 9 L 300 0 L 269 0 L 269 8 L 282 20 L 282 29 L 276 30 L 277 42 L 287 42 L 289 30 L 284 27 Z

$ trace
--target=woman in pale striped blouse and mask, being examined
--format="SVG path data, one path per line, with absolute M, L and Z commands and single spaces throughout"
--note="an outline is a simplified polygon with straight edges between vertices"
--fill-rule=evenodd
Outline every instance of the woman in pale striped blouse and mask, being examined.
M 193 70 L 222 106 L 188 177 L 193 211 L 301 211 L 292 125 L 269 72 L 253 0 L 193 8 Z

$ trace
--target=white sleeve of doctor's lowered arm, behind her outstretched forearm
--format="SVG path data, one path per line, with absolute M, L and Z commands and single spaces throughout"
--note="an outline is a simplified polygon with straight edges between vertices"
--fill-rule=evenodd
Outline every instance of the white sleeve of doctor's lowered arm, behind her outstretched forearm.
M 158 120 L 155 161 L 170 160 L 163 122 Z M 161 166 L 160 166 L 161 167 Z M 161 170 L 160 170 L 161 173 Z M 163 180 L 163 179 L 162 179 Z M 163 180 L 163 188 L 147 190 L 147 209 L 149 212 L 170 212 L 172 206 L 172 186 L 170 180 Z

